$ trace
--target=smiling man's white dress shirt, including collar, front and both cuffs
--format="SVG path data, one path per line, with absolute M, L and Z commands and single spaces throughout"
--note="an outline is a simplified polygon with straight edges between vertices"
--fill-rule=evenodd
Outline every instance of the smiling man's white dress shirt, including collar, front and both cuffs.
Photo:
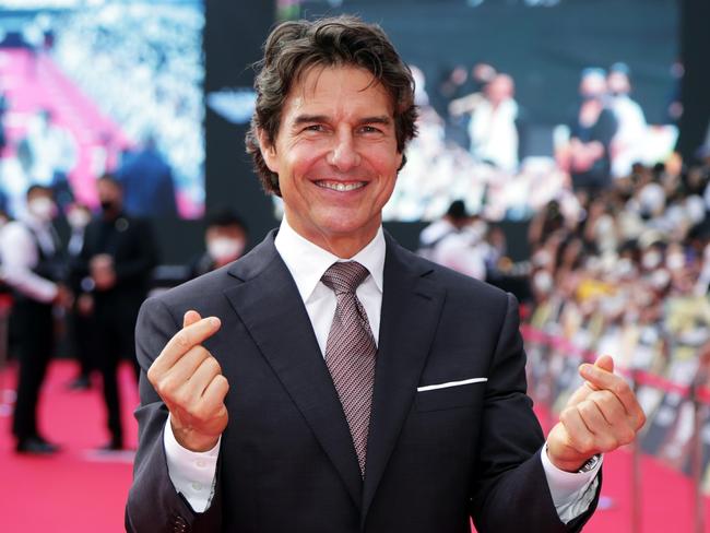
M 324 357 L 328 333 L 338 301 L 335 293 L 328 288 L 320 279 L 334 262 L 343 261 L 343 259 L 298 235 L 288 225 L 285 217 L 281 223 L 274 245 L 296 282 L 296 287 L 304 299 L 306 311 L 313 327 L 318 346 Z M 357 261 L 370 272 L 370 275 L 357 287 L 356 294 L 367 312 L 376 343 L 379 341 L 384 254 L 384 235 L 380 227 L 370 244 L 348 259 L 348 261 Z M 169 417 L 165 425 L 163 442 L 168 474 L 175 489 L 185 496 L 193 510 L 203 512 L 210 506 L 214 494 L 220 442 L 206 452 L 186 450 L 175 440 Z M 557 513 L 564 522 L 568 522 L 584 512 L 594 498 L 599 483 L 596 472 L 601 461 L 594 470 L 588 473 L 570 474 L 553 465 L 544 450 L 542 458 Z

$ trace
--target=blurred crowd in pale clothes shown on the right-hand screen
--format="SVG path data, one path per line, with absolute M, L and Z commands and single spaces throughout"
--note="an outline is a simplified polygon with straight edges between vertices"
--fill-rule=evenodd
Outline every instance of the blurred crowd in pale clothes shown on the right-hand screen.
M 477 63 L 430 87 L 414 72 L 421 134 L 386 209 L 391 220 L 435 220 L 459 199 L 487 220 L 528 220 L 570 189 L 605 189 L 634 163 L 663 161 L 677 134 L 672 123 L 648 125 L 620 62 L 582 71 L 579 105 L 546 130 L 545 146 L 532 142 L 540 125 L 517 100 L 511 75 Z

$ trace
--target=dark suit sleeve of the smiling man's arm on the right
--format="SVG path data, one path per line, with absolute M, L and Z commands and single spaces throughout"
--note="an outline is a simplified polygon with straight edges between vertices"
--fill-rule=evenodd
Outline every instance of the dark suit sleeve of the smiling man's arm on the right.
M 567 524 L 559 520 L 540 458 L 544 437 L 526 395 L 518 327 L 518 304 L 508 295 L 488 374 L 470 512 L 480 533 L 522 531 L 522 524 L 529 533 L 581 531 L 596 507 L 599 488 L 587 512 Z

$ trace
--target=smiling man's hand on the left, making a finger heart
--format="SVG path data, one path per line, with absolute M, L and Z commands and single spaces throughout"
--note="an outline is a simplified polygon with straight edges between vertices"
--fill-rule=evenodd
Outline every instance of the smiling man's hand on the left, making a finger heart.
M 147 370 L 147 379 L 170 411 L 173 434 L 191 451 L 214 448 L 227 426 L 224 398 L 229 390 L 217 360 L 202 342 L 220 330 L 216 317 L 188 311 L 182 329 Z

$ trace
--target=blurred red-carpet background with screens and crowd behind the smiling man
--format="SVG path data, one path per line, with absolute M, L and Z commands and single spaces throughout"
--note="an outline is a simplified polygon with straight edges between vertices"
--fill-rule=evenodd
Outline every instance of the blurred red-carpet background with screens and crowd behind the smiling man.
M 710 531 L 710 4 L 696 0 L 0 0 L 1 529 L 122 531 L 138 396 L 109 325 L 279 224 L 244 150 L 251 64 L 275 22 L 338 13 L 380 24 L 417 84 L 384 226 L 520 299 L 543 426 L 596 354 L 638 390 L 649 422 L 605 459 L 585 531 Z M 19 228 L 43 218 L 34 186 L 51 200 L 40 256 L 61 258 L 47 283 L 20 264 Z M 102 224 L 114 237 L 92 237 Z M 25 300 L 51 316 L 32 401 L 17 358 L 42 335 Z M 28 439 L 17 402 L 37 408 Z

